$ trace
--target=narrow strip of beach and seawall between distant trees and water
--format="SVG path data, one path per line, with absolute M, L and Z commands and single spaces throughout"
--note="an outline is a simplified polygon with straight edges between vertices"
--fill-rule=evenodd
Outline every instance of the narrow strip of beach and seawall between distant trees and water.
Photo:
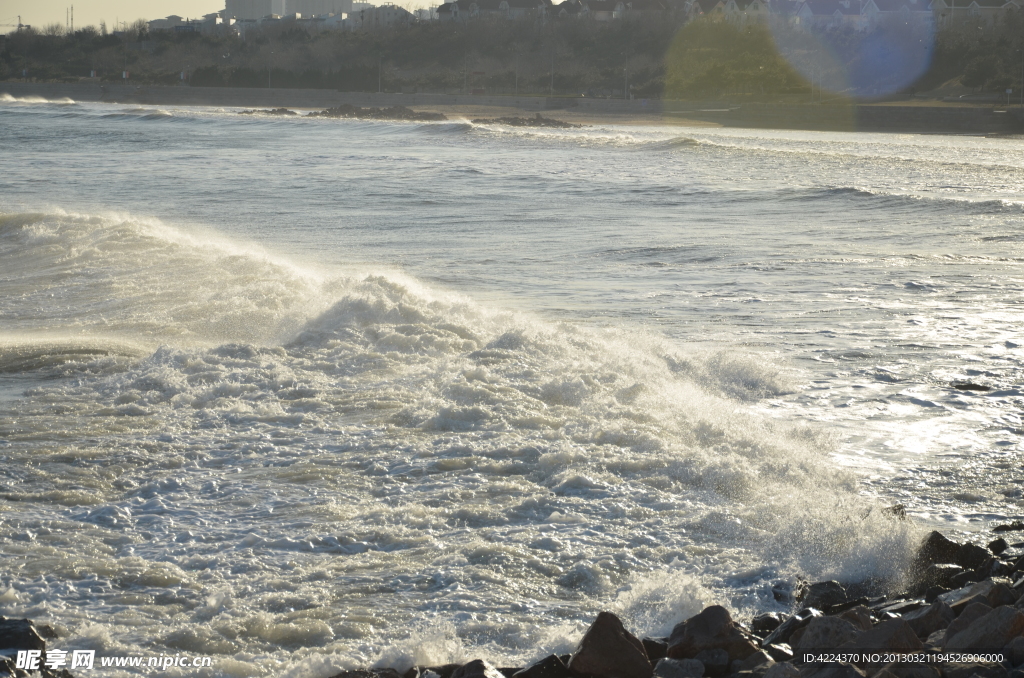
M 404 105 L 449 118 L 536 115 L 588 125 L 678 125 L 895 132 L 909 134 L 1024 134 L 1024 109 L 932 101 L 886 103 L 735 103 L 565 96 L 486 96 L 338 92 L 327 89 L 167 87 L 91 83 L 0 82 L 14 97 L 106 101 L 147 105 L 290 108 L 322 110 L 349 103 L 364 108 Z

